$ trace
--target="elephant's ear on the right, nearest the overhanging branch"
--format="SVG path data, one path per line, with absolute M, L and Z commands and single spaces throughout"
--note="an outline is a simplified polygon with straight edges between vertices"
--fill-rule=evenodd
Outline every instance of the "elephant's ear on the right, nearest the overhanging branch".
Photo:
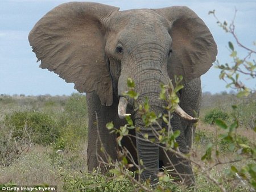
M 217 45 L 203 20 L 188 7 L 156 9 L 171 22 L 172 55 L 168 73 L 185 81 L 206 73 L 216 60 Z

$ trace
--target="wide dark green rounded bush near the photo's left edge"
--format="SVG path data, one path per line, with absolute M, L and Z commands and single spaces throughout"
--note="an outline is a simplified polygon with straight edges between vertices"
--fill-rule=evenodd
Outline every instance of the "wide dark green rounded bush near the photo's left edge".
M 60 136 L 55 120 L 43 112 L 15 111 L 6 115 L 3 123 L 14 128 L 13 137 L 36 144 L 48 145 Z

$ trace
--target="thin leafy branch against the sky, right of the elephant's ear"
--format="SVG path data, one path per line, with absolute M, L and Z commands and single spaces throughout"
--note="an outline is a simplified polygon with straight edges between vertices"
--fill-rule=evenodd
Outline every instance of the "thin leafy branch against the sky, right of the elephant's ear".
M 237 10 L 235 10 L 232 22 L 228 24 L 226 21 L 221 22 L 220 19 L 217 18 L 215 10 L 209 11 L 209 14 L 212 14 L 217 20 L 218 26 L 220 26 L 225 32 L 231 34 L 237 46 L 247 52 L 244 57 L 238 56 L 238 51 L 235 49 L 233 43 L 229 41 L 228 47 L 230 51 L 230 57 L 232 57 L 231 64 L 220 64 L 219 61 L 216 62 L 216 67 L 218 69 L 221 69 L 219 77 L 221 80 L 224 80 L 227 83 L 226 87 L 236 89 L 238 91 L 237 97 L 243 97 L 248 96 L 253 90 L 249 89 L 249 87 L 247 87 L 242 81 L 240 81 L 240 74 L 243 74 L 247 77 L 249 76 L 250 78 L 256 77 L 256 62 L 253 59 L 256 51 L 247 47 L 238 39 L 236 34 L 236 26 L 234 24 L 236 19 L 236 13 Z M 254 45 L 256 45 L 255 42 Z

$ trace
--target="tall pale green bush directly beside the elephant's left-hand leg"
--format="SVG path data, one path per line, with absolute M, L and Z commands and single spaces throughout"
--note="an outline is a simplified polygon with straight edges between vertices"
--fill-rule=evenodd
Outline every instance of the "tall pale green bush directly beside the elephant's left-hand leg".
M 80 168 L 84 166 L 84 159 L 79 156 L 84 151 L 84 143 L 87 136 L 87 107 L 84 94 L 73 93 L 65 101 L 64 110 L 56 114 L 56 121 L 61 127 L 61 136 L 52 145 L 49 154 L 54 166 L 65 168 Z M 63 153 L 56 153 L 58 150 Z M 82 162 L 81 162 L 82 161 Z

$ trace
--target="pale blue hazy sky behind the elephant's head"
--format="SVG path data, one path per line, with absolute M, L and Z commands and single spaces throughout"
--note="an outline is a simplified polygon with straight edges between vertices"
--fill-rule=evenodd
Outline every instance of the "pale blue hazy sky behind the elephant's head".
M 70 1 L 70 0 L 69 0 Z M 69 95 L 76 92 L 73 84 L 67 84 L 55 73 L 38 68 L 35 54 L 28 43 L 28 33 L 34 24 L 53 7 L 60 5 L 63 0 L 0 0 L 0 94 L 25 95 Z M 217 26 L 211 10 L 216 10 L 220 20 L 228 23 L 233 19 L 235 7 L 237 16 L 235 20 L 238 38 L 247 47 L 254 48 L 256 41 L 256 1 L 93 1 L 120 7 L 121 10 L 139 8 L 162 8 L 174 5 L 185 5 L 200 16 L 209 27 L 218 45 L 217 59 L 230 62 L 228 56 L 228 41 L 233 41 L 231 35 L 226 34 Z M 235 46 L 236 48 L 236 46 Z M 240 49 L 238 49 L 239 51 Z M 246 54 L 242 52 L 241 57 Z M 220 71 L 211 68 L 202 76 L 203 91 L 220 93 L 225 90 L 225 83 L 218 79 Z M 255 80 L 247 80 L 247 85 L 255 89 Z

